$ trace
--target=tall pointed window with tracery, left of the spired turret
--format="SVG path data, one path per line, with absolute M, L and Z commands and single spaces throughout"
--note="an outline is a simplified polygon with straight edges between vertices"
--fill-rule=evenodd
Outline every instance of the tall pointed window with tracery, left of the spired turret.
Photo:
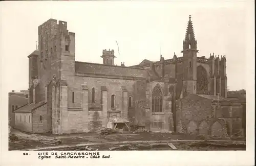
M 162 112 L 163 93 L 159 85 L 156 85 L 152 92 L 152 112 Z

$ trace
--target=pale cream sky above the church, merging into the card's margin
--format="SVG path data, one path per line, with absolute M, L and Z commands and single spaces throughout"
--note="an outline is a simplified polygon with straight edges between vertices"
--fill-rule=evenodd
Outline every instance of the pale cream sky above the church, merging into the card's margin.
M 1 84 L 28 89 L 27 56 L 36 49 L 38 26 L 51 17 L 76 33 L 76 61 L 102 63 L 102 50 L 114 49 L 115 64 L 131 66 L 159 60 L 160 47 L 165 59 L 181 57 L 190 14 L 198 56 L 226 55 L 228 88 L 246 89 L 253 1 L 216 2 L 1 2 Z

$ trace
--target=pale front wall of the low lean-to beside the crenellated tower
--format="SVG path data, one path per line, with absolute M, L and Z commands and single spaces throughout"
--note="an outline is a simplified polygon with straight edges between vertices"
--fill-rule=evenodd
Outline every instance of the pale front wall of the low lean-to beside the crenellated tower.
M 31 112 L 15 112 L 15 128 L 32 132 L 32 115 Z

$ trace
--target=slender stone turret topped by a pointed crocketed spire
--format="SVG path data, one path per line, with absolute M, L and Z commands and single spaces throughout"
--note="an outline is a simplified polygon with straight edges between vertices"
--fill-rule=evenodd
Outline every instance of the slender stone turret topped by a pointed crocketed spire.
M 197 93 L 197 40 L 195 38 L 191 15 L 183 41 L 183 96 Z

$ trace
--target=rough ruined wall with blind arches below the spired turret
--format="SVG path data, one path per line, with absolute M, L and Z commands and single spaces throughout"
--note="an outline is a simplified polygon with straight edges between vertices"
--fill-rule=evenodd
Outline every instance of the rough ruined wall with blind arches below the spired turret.
M 211 100 L 190 94 L 177 104 L 177 132 L 226 135 L 226 122 L 215 117 Z

